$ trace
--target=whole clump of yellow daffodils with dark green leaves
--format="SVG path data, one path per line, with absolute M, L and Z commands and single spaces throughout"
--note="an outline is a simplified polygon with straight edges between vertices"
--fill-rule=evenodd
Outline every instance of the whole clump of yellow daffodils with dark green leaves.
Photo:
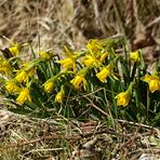
M 117 39 L 91 39 L 81 51 L 65 46 L 66 56 L 63 57 L 59 53 L 41 50 L 35 53 L 36 58 L 23 61 L 18 55 L 28 45 L 12 43 L 6 49 L 11 56 L 3 55 L 4 51 L 0 56 L 0 80 L 6 96 L 30 110 L 37 106 L 43 110 L 48 110 L 45 107 L 56 110 L 59 104 L 71 106 L 75 102 L 81 105 L 81 109 L 75 111 L 75 107 L 71 111 L 81 111 L 81 115 L 91 102 L 104 110 L 111 106 L 114 115 L 125 108 L 139 107 L 142 114 L 149 105 L 159 107 L 158 66 L 158 74 L 148 72 L 141 50 L 122 50 L 125 54 L 121 55 L 117 48 L 122 44 L 122 40 Z M 89 98 L 92 101 L 88 102 Z M 145 108 L 146 98 L 150 104 Z

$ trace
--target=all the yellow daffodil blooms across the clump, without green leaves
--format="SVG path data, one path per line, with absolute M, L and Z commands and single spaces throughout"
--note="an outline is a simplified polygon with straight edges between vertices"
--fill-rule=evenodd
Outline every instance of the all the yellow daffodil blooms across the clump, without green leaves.
M 108 77 L 112 77 L 115 80 L 119 80 L 114 72 L 114 61 L 116 61 L 119 55 L 114 52 L 109 52 L 105 49 L 105 41 L 91 39 L 86 44 L 86 51 L 84 52 L 71 52 L 68 48 L 65 48 L 67 57 L 61 61 L 56 61 L 55 63 L 59 64 L 62 70 L 48 79 L 43 83 L 43 89 L 46 93 L 52 93 L 54 86 L 56 85 L 56 81 L 61 79 L 61 77 L 65 76 L 68 72 L 75 75 L 72 79 L 70 79 L 70 84 L 80 89 L 83 86 L 86 90 L 88 80 L 85 78 L 86 74 L 91 69 L 96 70 L 96 78 L 105 83 Z M 9 48 L 12 56 L 17 56 L 22 52 L 23 48 L 17 43 L 12 44 Z M 16 102 L 19 104 L 24 104 L 26 101 L 31 103 L 30 89 L 29 89 L 29 80 L 35 76 L 35 70 L 37 65 L 40 62 L 51 61 L 53 54 L 46 51 L 40 51 L 39 57 L 29 62 L 25 62 L 19 65 L 21 69 L 13 68 L 10 63 L 10 58 L 0 57 L 0 74 L 5 75 L 5 89 L 9 93 L 16 94 Z M 111 57 L 111 58 L 110 58 Z M 131 52 L 130 59 L 138 63 L 141 61 L 139 52 Z M 77 61 L 83 65 L 82 69 L 77 69 Z M 16 72 L 13 75 L 13 72 Z M 12 78 L 11 78 L 12 77 Z M 160 91 L 160 78 L 157 75 L 146 75 L 141 78 L 141 80 L 147 82 L 149 84 L 149 90 L 151 93 L 155 91 Z M 132 88 L 134 82 L 131 82 L 128 90 L 119 93 L 115 96 L 117 99 L 118 106 L 128 106 L 132 96 Z M 59 92 L 55 96 L 55 102 L 62 103 L 65 97 L 65 86 L 62 85 Z

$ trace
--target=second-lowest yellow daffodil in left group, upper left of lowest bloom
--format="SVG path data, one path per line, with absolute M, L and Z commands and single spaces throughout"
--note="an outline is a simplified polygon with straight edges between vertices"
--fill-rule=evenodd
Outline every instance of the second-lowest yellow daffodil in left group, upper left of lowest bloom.
M 10 93 L 19 93 L 21 89 L 19 86 L 16 84 L 16 82 L 14 80 L 9 80 L 5 82 L 5 89 L 8 90 L 8 92 Z

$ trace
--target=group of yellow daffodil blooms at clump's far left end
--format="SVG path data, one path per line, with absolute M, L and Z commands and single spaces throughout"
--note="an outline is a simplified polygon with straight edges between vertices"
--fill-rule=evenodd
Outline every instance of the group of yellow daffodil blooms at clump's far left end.
M 4 52 L 4 51 L 3 51 Z M 34 76 L 34 61 L 32 62 L 26 62 L 19 67 L 22 69 L 16 70 L 12 64 L 11 59 L 14 56 L 18 56 L 22 52 L 22 46 L 17 43 L 13 43 L 9 51 L 10 56 L 8 58 L 4 58 L 0 56 L 0 74 L 5 76 L 5 89 L 9 93 L 17 94 L 16 102 L 19 104 L 24 104 L 25 101 L 28 101 L 31 103 L 31 97 L 29 93 L 29 89 L 27 86 L 29 78 Z M 13 75 L 13 72 L 16 72 L 16 75 Z M 14 77 L 13 77 L 14 76 Z M 13 77 L 13 78 L 12 78 Z M 26 86 L 25 86 L 26 83 Z

